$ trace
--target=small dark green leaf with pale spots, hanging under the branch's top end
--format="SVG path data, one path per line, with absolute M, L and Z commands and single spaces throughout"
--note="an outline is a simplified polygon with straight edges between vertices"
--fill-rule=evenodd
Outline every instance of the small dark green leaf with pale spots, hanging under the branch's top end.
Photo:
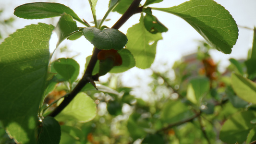
M 152 14 L 146 13 L 144 17 L 144 25 L 146 27 L 146 30 L 152 34 L 163 33 L 168 31 L 168 28 L 165 27 L 162 23 L 160 23 L 158 19 Z

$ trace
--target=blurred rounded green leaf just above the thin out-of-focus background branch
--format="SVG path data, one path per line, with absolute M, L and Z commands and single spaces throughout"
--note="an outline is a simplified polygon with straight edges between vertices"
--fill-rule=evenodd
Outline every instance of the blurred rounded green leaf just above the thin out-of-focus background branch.
M 164 122 L 175 123 L 193 117 L 194 115 L 191 109 L 181 101 L 169 101 L 162 109 L 161 119 Z

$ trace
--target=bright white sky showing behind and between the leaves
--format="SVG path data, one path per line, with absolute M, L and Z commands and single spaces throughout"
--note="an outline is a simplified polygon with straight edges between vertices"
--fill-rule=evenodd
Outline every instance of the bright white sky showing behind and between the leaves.
M 44 2 L 59 2 L 66 6 L 69 6 L 80 18 L 85 19 L 87 22 L 93 21 L 91 10 L 88 0 L 40 0 Z M 143 0 L 145 1 L 145 0 Z M 163 0 L 158 4 L 150 5 L 151 7 L 172 7 L 179 5 L 187 0 Z M 217 3 L 224 6 L 233 16 L 236 23 L 239 26 L 239 37 L 236 45 L 232 48 L 231 54 L 223 54 L 218 50 L 211 50 L 210 54 L 216 62 L 219 62 L 222 70 L 229 65 L 229 59 L 245 59 L 247 57 L 248 49 L 252 47 L 253 40 L 253 28 L 256 25 L 256 0 L 215 0 Z M 0 19 L 5 19 L 13 16 L 13 10 L 15 7 L 29 2 L 38 2 L 38 0 L 0 0 L 0 9 L 4 9 Z M 105 12 L 108 10 L 108 0 L 98 0 L 96 7 L 97 18 L 101 19 Z M 183 19 L 172 15 L 170 13 L 153 11 L 158 20 L 169 28 L 168 32 L 163 33 L 163 39 L 158 41 L 157 54 L 154 63 L 151 68 L 157 72 L 164 72 L 167 69 L 171 70 L 172 64 L 176 60 L 180 60 L 182 56 L 196 52 L 198 46 L 198 40 L 203 40 L 195 29 L 186 23 Z M 104 23 L 111 27 L 119 18 L 120 14 L 117 12 L 110 13 L 110 21 Z M 130 18 L 119 29 L 124 34 L 129 27 L 139 22 L 139 14 Z M 23 28 L 25 25 L 37 24 L 38 22 L 50 23 L 56 25 L 59 18 L 43 19 L 43 20 L 24 20 L 17 18 L 14 22 L 14 27 L 9 30 L 10 33 L 16 29 Z M 78 24 L 78 26 L 83 26 Z M 244 28 L 247 27 L 247 28 Z M 249 29 L 248 29 L 249 28 Z M 56 36 L 52 36 L 50 42 L 51 49 L 55 48 L 57 42 Z M 85 58 L 92 54 L 93 46 L 83 36 L 76 41 L 65 40 L 61 43 L 60 47 L 68 45 L 72 52 L 64 53 L 63 55 L 56 55 L 54 58 L 61 58 L 67 55 L 68 57 L 74 57 L 75 60 L 81 64 L 81 73 L 83 72 L 83 65 L 85 64 Z M 57 49 L 58 52 L 58 49 Z M 160 63 L 160 64 L 159 64 Z M 144 76 L 150 75 L 150 70 L 141 70 L 133 68 L 128 72 L 125 72 L 124 83 L 133 84 L 130 82 L 130 77 L 137 79 L 143 79 Z M 104 79 L 104 77 L 102 78 Z M 138 83 L 138 82 L 134 82 Z

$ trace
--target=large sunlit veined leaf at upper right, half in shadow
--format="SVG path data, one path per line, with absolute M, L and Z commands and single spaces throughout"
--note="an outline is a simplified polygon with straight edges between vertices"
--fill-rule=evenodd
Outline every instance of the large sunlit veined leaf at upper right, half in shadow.
M 171 8 L 152 8 L 183 18 L 219 51 L 230 54 L 238 38 L 232 15 L 213 0 L 189 0 Z

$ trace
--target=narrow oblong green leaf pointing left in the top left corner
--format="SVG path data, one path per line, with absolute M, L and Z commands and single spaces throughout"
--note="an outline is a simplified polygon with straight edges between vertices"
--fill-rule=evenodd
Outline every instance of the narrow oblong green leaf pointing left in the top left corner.
M 34 2 L 20 5 L 14 9 L 14 14 L 24 19 L 44 19 L 61 16 L 64 12 L 71 15 L 73 19 L 85 24 L 69 7 L 60 3 Z

